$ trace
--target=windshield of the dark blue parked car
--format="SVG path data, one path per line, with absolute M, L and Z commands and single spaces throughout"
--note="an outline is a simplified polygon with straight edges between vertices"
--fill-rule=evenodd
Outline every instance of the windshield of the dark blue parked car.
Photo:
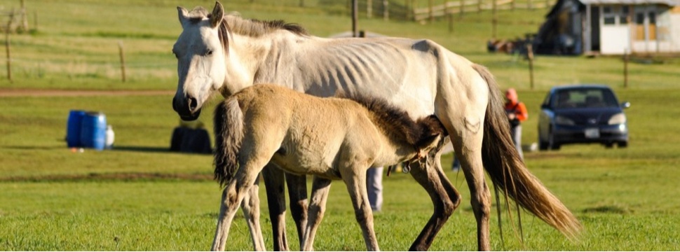
M 559 90 L 555 99 L 557 109 L 606 107 L 618 107 L 618 102 L 611 90 L 604 88 Z

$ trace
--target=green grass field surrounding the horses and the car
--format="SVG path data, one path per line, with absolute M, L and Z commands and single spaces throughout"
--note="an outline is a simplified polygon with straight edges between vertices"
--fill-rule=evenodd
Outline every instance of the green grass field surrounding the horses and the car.
M 227 11 L 247 18 L 297 22 L 312 34 L 347 31 L 343 5 L 326 1 L 223 1 Z M 39 13 L 32 34 L 11 36 L 13 82 L 0 72 L 0 93 L 11 89 L 175 90 L 175 59 L 170 49 L 180 27 L 175 6 L 212 7 L 211 1 L 27 1 Z M 423 4 L 423 3 L 421 3 Z M 18 1 L 0 1 L 11 8 Z M 547 10 L 501 12 L 499 37 L 536 32 Z M 524 243 L 503 215 L 503 238 L 491 219 L 494 250 L 678 251 L 680 234 L 680 96 L 678 59 L 664 64 L 630 64 L 624 89 L 618 57 L 545 57 L 535 62 L 534 90 L 528 63 L 512 55 L 489 54 L 489 12 L 456 18 L 452 34 L 440 20 L 420 25 L 403 20 L 360 19 L 360 28 L 393 36 L 430 38 L 480 62 L 503 88 L 517 87 L 530 118 L 522 141 L 536 141 L 538 106 L 552 85 L 604 83 L 632 107 L 628 148 L 564 146 L 560 151 L 525 153 L 531 172 L 583 223 L 583 234 L 569 241 L 529 214 L 522 215 Z M 29 19 L 30 20 L 30 19 Z M 31 20 L 31 23 L 33 21 Z M 125 45 L 128 81 L 120 80 L 118 41 Z M 0 60 L 0 69 L 6 62 Z M 195 251 L 212 242 L 219 209 L 219 186 L 212 181 L 212 156 L 169 153 L 170 134 L 179 118 L 169 95 L 101 97 L 0 97 L 0 250 L 2 251 Z M 214 104 L 214 102 L 213 102 Z M 106 113 L 116 131 L 116 148 L 72 153 L 66 148 L 69 110 Z M 210 111 L 201 118 L 210 132 Z M 463 195 L 432 250 L 475 250 L 476 228 L 463 174 L 447 175 Z M 432 204 L 407 174 L 383 181 L 385 203 L 376 214 L 381 249 L 409 247 L 427 222 Z M 264 186 L 263 186 L 264 187 Z M 271 230 L 264 189 L 261 223 L 267 248 Z M 365 250 L 344 185 L 335 182 L 315 248 Z M 504 206 L 503 206 L 504 207 Z M 229 250 L 250 250 L 241 216 L 229 234 Z M 513 217 L 513 220 L 517 220 Z M 297 237 L 287 220 L 292 249 Z

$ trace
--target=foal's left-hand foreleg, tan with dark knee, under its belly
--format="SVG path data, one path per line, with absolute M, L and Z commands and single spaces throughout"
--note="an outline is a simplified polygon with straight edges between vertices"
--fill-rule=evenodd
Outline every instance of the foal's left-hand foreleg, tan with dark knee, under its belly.
M 304 231 L 304 238 L 302 239 L 301 251 L 314 250 L 314 237 L 326 211 L 326 200 L 328 199 L 330 188 L 331 181 L 329 179 L 314 176 L 312 182 L 312 200 L 309 204 L 309 219 L 306 223 L 307 226 Z

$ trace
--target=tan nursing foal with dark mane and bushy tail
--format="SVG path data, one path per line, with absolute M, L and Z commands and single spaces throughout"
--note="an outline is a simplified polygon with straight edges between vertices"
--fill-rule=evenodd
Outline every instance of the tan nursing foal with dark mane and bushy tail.
M 339 179 L 349 191 L 367 250 L 379 250 L 366 170 L 399 162 L 422 165 L 447 134 L 435 116 L 414 121 L 381 99 L 347 98 L 261 84 L 217 106 L 215 180 L 226 188 L 212 250 L 224 250 L 234 214 L 270 160 L 286 172 L 314 176 L 303 250 L 313 249 L 331 180 Z

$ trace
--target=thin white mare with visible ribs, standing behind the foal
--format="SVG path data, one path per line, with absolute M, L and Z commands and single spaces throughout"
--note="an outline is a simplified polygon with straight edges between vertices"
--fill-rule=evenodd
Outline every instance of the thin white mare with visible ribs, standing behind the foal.
M 519 158 L 501 93 L 483 66 L 427 39 L 319 38 L 298 25 L 224 15 L 219 2 L 212 13 L 203 8 L 178 8 L 178 13 L 183 30 L 172 49 L 179 77 L 173 108 L 185 120 L 198 118 L 213 94 L 228 97 L 254 83 L 276 83 L 320 97 L 338 91 L 381 97 L 414 118 L 434 114 L 441 120 L 468 181 L 480 250 L 491 249 L 485 170 L 498 191 L 567 237 L 580 230 L 569 209 Z M 411 174 L 434 205 L 430 221 L 410 247 L 426 250 L 460 196 L 441 165 Z

